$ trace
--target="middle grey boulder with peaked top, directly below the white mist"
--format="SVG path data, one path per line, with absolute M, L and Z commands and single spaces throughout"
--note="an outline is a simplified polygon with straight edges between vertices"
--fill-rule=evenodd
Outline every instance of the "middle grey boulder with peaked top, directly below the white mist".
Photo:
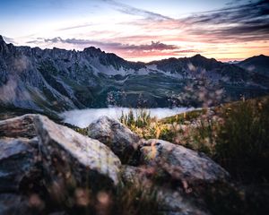
M 139 144 L 139 136 L 117 120 L 102 116 L 88 127 L 88 135 L 105 143 L 123 163 L 132 162 Z

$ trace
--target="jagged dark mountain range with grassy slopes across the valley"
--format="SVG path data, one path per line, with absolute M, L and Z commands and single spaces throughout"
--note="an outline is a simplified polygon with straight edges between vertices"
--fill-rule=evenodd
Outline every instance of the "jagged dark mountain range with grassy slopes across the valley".
M 269 56 L 236 64 L 201 55 L 129 62 L 100 48 L 16 47 L 0 36 L 0 106 L 39 112 L 86 107 L 201 106 L 269 94 Z

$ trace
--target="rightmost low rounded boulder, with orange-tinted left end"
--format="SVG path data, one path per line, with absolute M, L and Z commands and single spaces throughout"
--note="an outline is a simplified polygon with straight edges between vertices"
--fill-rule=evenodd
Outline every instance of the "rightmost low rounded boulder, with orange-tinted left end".
M 229 178 L 229 173 L 204 153 L 170 142 L 144 141 L 141 153 L 142 164 L 161 168 L 172 180 L 179 180 L 184 185 L 227 181 Z

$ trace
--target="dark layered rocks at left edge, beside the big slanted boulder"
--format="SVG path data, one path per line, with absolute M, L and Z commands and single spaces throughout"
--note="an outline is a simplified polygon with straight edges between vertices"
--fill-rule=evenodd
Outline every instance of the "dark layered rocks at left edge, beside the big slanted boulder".
M 0 121 L 0 214 L 39 213 L 39 205 L 29 202 L 33 190 L 36 196 L 43 190 L 34 117 Z

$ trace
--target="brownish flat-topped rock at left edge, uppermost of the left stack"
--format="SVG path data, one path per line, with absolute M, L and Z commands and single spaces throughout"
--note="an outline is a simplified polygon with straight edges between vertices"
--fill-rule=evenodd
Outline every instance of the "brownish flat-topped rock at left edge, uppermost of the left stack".
M 33 125 L 33 118 L 36 115 L 23 115 L 0 121 L 0 138 L 1 137 L 26 137 L 36 136 L 36 130 Z

